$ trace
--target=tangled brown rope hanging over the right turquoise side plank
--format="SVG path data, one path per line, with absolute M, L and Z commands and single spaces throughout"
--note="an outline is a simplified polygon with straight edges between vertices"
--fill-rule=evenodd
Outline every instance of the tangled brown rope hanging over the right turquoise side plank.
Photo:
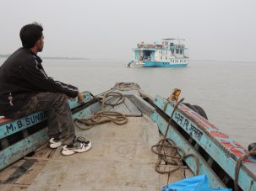
M 166 128 L 166 132 L 164 135 L 164 138 L 161 139 L 161 141 L 159 141 L 156 145 L 151 147 L 151 151 L 153 151 L 156 155 L 158 155 L 158 162 L 156 162 L 155 164 L 155 171 L 159 172 L 161 174 L 164 173 L 172 173 L 172 172 L 176 172 L 178 169 L 180 168 L 184 168 L 182 166 L 182 161 L 188 157 L 194 157 L 195 162 L 196 162 L 196 175 L 199 174 L 199 158 L 194 155 L 194 154 L 186 154 L 185 151 L 182 150 L 182 148 L 180 146 L 176 146 L 175 142 L 172 141 L 172 139 L 166 138 L 168 130 L 170 128 L 171 125 L 173 125 L 173 121 L 172 121 L 172 116 L 174 114 L 174 112 L 177 109 L 177 106 L 179 105 L 179 103 L 182 103 L 182 101 L 184 100 L 184 98 L 182 98 L 180 101 L 177 102 L 177 104 L 175 105 L 171 117 L 168 121 L 168 125 Z M 175 149 L 174 153 L 171 155 L 166 154 L 165 149 Z M 182 154 L 179 153 L 179 155 L 177 155 L 177 151 L 180 151 Z M 165 162 L 166 165 L 172 165 L 172 166 L 177 166 L 175 168 L 173 168 L 172 170 L 161 170 L 161 162 Z

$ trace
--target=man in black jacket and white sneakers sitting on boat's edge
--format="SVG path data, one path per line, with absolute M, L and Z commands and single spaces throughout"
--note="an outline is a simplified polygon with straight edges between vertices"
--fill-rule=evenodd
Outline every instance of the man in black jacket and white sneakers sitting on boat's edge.
M 41 66 L 38 52 L 43 50 L 44 36 L 40 24 L 27 24 L 19 33 L 23 47 L 0 66 L 0 115 L 20 118 L 46 111 L 50 147 L 63 145 L 63 155 L 88 151 L 90 141 L 76 137 L 68 98 L 82 95 L 78 88 L 54 81 Z

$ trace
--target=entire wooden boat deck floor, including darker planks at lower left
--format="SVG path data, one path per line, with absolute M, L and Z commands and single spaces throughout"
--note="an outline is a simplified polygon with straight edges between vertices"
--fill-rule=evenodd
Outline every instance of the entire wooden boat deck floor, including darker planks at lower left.
M 141 114 L 128 98 L 108 109 Z M 4 169 L 5 173 L 0 175 L 0 181 L 5 183 L 0 185 L 1 190 L 160 190 L 167 183 L 192 175 L 189 169 L 180 169 L 171 176 L 155 172 L 157 156 L 150 148 L 159 141 L 160 134 L 146 115 L 129 117 L 125 125 L 76 128 L 76 134 L 92 141 L 90 151 L 63 156 L 61 148 L 52 151 L 45 147 L 41 158 L 35 152 L 34 156 Z M 15 172 L 31 162 L 23 175 L 15 178 Z M 9 181 L 12 175 L 13 181 Z

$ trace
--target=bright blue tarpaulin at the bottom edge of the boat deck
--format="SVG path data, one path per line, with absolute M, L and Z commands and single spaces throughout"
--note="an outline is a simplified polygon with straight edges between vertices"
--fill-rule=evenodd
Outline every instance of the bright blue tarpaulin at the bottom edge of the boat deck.
M 169 183 L 161 191 L 232 191 L 231 188 L 210 188 L 206 175 L 185 178 L 177 183 Z

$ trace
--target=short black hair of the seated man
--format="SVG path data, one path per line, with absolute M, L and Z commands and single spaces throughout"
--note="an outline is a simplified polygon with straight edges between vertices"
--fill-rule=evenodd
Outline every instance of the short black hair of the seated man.
M 32 48 L 41 39 L 43 28 L 41 24 L 27 24 L 20 29 L 19 37 L 24 48 Z

